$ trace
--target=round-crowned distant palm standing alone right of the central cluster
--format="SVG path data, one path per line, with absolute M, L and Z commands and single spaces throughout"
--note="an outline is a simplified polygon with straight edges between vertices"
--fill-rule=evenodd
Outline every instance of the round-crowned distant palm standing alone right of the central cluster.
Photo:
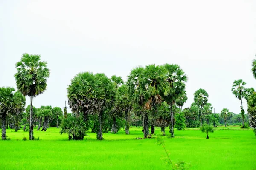
M 207 104 L 208 97 L 209 97 L 208 93 L 202 88 L 199 88 L 194 93 L 194 101 L 196 105 L 198 105 L 198 107 L 200 108 L 200 115 L 198 115 L 198 121 L 201 122 L 201 125 L 202 125 L 202 109 L 204 108 L 204 105 Z

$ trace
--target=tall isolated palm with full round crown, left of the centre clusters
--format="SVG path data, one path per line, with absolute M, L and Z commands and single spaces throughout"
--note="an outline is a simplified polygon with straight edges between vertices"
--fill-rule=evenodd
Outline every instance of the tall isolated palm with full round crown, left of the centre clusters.
M 47 89 L 47 78 L 50 76 L 47 62 L 40 61 L 40 57 L 40 55 L 23 54 L 21 60 L 16 63 L 17 73 L 14 75 L 17 89 L 24 96 L 30 96 L 29 140 L 34 139 L 33 98 Z

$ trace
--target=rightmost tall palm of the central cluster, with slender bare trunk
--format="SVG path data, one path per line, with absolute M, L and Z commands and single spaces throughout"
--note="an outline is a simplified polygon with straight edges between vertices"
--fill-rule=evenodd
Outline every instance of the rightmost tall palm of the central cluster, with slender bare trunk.
M 187 82 L 188 77 L 177 64 L 165 64 L 164 67 L 167 70 L 166 82 L 169 84 L 170 88 L 169 93 L 164 97 L 164 100 L 170 106 L 170 133 L 171 137 L 174 137 L 174 113 L 172 106 L 175 104 L 176 100 L 182 96 L 183 91 L 186 88 L 185 82 Z

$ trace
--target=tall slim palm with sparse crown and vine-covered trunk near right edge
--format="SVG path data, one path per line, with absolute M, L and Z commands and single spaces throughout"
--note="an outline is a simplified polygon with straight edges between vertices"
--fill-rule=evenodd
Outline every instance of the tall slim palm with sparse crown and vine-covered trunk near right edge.
M 246 88 L 244 87 L 246 85 L 246 82 L 244 82 L 242 79 L 235 80 L 232 85 L 232 93 L 241 101 L 241 114 L 243 117 L 243 127 L 244 127 L 244 116 L 243 116 L 243 102 L 242 99 L 246 96 Z

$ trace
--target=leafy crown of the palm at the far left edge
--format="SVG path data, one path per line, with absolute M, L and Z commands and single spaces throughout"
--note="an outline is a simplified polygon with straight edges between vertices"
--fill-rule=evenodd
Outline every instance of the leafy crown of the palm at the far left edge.
M 12 112 L 14 106 L 14 91 L 12 87 L 0 87 L 0 116 Z

